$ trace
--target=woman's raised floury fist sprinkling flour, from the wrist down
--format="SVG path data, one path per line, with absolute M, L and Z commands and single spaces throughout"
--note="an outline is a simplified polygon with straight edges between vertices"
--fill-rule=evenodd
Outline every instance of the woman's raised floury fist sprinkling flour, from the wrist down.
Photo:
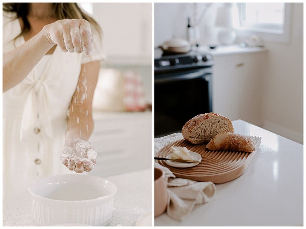
M 43 27 L 46 39 L 50 44 L 57 44 L 63 52 L 85 52 L 91 54 L 91 28 L 88 21 L 58 20 Z

